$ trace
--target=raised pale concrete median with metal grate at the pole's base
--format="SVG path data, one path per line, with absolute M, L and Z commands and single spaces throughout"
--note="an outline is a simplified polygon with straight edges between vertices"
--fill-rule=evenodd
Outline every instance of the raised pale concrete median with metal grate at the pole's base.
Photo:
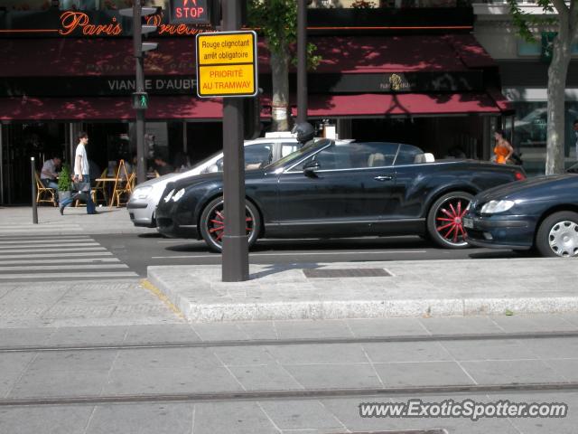
M 250 280 L 224 283 L 220 266 L 149 267 L 148 279 L 191 322 L 578 312 L 575 259 L 252 264 L 250 270 Z M 306 276 L 319 270 L 356 277 Z

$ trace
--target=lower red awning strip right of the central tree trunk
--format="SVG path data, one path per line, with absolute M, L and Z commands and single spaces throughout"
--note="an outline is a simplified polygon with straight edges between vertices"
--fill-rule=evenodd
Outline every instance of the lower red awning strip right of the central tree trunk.
M 312 95 L 310 118 L 356 118 L 388 116 L 443 116 L 501 112 L 485 93 Z M 294 116 L 296 109 L 293 108 Z

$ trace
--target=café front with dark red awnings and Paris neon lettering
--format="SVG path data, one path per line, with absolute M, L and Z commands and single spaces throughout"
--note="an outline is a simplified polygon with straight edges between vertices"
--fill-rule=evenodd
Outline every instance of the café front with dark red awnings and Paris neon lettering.
M 129 2 L 130 3 L 130 2 Z M 196 97 L 194 35 L 171 24 L 163 1 L 152 18 L 158 49 L 144 61 L 147 143 L 177 166 L 219 151 L 222 106 Z M 339 3 L 339 2 L 338 2 Z M 308 118 L 340 137 L 406 142 L 435 156 L 489 158 L 492 129 L 511 115 L 498 65 L 471 34 L 470 6 L 451 1 L 313 2 L 308 37 L 322 62 L 308 74 Z M 378 2 L 374 2 L 377 5 Z M 30 156 L 70 161 L 89 132 L 102 169 L 135 153 L 131 20 L 124 0 L 0 0 L 0 203 L 30 201 Z M 271 117 L 268 53 L 259 42 L 259 119 Z M 292 114 L 296 79 L 290 74 Z M 38 167 L 40 168 L 40 167 Z

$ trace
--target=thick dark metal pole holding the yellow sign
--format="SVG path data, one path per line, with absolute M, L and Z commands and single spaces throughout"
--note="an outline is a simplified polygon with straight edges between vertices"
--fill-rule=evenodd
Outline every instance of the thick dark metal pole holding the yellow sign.
M 241 26 L 238 0 L 223 3 L 223 27 Z M 249 278 L 247 222 L 245 216 L 245 154 L 243 149 L 243 99 L 223 99 L 223 194 L 225 235 L 223 237 L 222 281 L 240 282 Z

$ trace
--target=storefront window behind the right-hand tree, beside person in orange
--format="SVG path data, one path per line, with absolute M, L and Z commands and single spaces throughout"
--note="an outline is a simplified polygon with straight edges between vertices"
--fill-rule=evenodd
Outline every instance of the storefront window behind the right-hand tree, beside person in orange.
M 544 175 L 545 173 L 545 146 L 547 133 L 546 102 L 515 102 L 516 119 L 514 121 L 513 146 L 524 161 L 524 168 L 528 175 Z M 564 165 L 569 167 L 576 162 L 576 140 L 573 131 L 573 121 L 578 119 L 578 102 L 565 104 L 565 141 Z M 509 137 L 511 126 L 505 130 Z

